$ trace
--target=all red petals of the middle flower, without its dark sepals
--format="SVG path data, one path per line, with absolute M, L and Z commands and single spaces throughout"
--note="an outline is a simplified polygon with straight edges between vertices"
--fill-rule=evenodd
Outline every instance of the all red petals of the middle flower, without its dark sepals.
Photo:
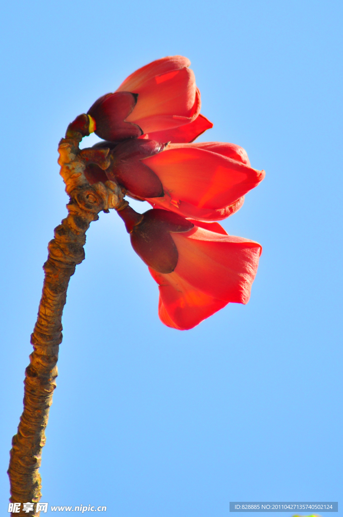
M 163 197 L 147 200 L 152 206 L 206 221 L 236 212 L 265 174 L 251 168 L 242 147 L 222 142 L 169 144 L 144 164 L 163 185 Z

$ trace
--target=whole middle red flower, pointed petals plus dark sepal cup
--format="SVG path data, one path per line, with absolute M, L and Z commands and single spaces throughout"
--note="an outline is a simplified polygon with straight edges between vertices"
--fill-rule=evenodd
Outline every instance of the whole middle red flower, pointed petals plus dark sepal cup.
M 166 145 L 134 139 L 96 145 L 106 146 L 112 146 L 113 159 L 105 171 L 108 179 L 117 181 L 132 197 L 184 217 L 225 219 L 264 178 L 264 171 L 252 169 L 245 150 L 235 144 Z M 102 181 L 100 175 L 99 169 Z M 90 174 L 87 177 L 92 180 Z

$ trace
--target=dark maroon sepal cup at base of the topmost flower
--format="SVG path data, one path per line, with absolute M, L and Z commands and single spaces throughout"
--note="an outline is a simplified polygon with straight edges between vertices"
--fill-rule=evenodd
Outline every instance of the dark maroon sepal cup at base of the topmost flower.
M 125 122 L 137 102 L 131 92 L 116 92 L 100 97 L 88 110 L 96 121 L 95 133 L 104 140 L 116 141 L 137 138 L 143 134 L 137 124 Z

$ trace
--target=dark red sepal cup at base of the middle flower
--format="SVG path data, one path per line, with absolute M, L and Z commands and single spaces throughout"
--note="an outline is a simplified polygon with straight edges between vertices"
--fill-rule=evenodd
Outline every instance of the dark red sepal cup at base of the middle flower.
M 112 150 L 113 164 L 106 170 L 108 179 L 117 181 L 129 195 L 162 197 L 160 178 L 141 160 L 160 153 L 165 146 L 153 140 L 134 139 L 119 143 Z

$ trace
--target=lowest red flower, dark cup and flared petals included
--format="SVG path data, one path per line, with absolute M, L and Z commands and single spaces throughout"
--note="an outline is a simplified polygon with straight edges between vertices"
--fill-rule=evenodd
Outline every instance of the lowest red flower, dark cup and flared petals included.
M 227 235 L 219 223 L 189 221 L 167 210 L 118 212 L 131 244 L 160 290 L 159 316 L 187 330 L 229 302 L 247 303 L 261 246 Z

